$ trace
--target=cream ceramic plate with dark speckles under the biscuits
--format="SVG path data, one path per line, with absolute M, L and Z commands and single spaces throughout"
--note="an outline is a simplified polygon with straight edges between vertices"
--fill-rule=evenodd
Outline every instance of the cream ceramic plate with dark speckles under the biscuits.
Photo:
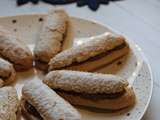
M 32 14 L 0 17 L 0 25 L 19 35 L 33 49 L 35 41 L 38 40 L 39 31 L 45 20 L 45 16 L 44 14 Z M 79 18 L 72 18 L 70 26 L 69 35 L 64 43 L 64 49 L 85 42 L 86 39 L 81 38 L 96 36 L 106 31 L 112 32 L 109 28 L 96 22 Z M 131 52 L 127 57 L 115 61 L 96 72 L 112 73 L 127 78 L 136 94 L 137 102 L 135 106 L 118 113 L 99 113 L 78 108 L 82 114 L 82 120 L 140 120 L 144 115 L 152 95 L 153 78 L 141 49 L 132 41 L 128 40 L 128 42 Z M 21 88 L 25 82 L 42 78 L 43 74 L 35 69 L 18 73 L 17 82 L 14 85 L 19 97 L 21 96 Z

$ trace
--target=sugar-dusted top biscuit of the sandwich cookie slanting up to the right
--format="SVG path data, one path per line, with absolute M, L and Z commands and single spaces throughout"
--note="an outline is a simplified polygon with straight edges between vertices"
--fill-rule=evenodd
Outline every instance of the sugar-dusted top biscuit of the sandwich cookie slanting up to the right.
M 62 51 L 53 57 L 49 62 L 49 70 L 63 68 L 72 63 L 80 63 L 95 57 L 101 53 L 111 52 L 110 50 L 120 46 L 127 45 L 125 38 L 112 33 L 104 33 L 102 35 L 91 38 L 91 40 Z

